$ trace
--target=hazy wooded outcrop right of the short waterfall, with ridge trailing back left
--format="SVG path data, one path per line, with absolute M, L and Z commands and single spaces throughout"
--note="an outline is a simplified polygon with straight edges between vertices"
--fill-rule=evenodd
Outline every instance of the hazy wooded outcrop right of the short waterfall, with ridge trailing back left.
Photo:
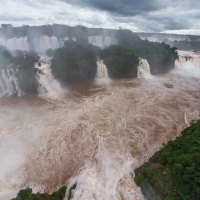
M 167 73 L 175 66 L 178 58 L 176 48 L 165 43 L 141 40 L 138 35 L 129 30 L 117 33 L 118 45 L 132 50 L 135 55 L 148 60 L 152 74 Z

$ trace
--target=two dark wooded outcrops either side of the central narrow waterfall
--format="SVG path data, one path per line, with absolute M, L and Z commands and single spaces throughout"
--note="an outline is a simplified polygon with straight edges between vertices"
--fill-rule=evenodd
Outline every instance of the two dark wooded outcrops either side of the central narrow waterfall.
M 139 59 L 133 51 L 120 46 L 111 46 L 101 50 L 91 45 L 80 45 L 66 41 L 63 48 L 53 53 L 52 72 L 62 84 L 90 81 L 95 78 L 96 57 L 104 59 L 111 78 L 137 77 Z

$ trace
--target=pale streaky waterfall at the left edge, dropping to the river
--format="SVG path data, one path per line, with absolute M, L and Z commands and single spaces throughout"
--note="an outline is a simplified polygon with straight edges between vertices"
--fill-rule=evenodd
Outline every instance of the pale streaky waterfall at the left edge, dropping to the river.
M 0 69 L 0 96 L 23 95 L 16 77 L 17 71 L 12 64 Z

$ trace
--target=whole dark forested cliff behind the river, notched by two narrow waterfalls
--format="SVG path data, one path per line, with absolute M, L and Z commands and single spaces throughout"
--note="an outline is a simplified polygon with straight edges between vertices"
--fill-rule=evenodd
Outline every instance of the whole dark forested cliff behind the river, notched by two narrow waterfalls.
M 104 60 L 112 79 L 136 78 L 139 57 L 148 60 L 152 74 L 167 73 L 174 68 L 178 58 L 176 48 L 164 43 L 142 41 L 132 32 L 123 32 L 119 41 L 119 45 L 105 49 L 66 41 L 64 47 L 48 50 L 47 53 L 53 57 L 55 78 L 62 84 L 94 80 L 97 58 Z

